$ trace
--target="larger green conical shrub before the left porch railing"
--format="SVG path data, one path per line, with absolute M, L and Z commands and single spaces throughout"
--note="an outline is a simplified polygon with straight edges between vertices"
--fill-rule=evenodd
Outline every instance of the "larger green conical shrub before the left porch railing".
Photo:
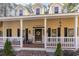
M 12 56 L 14 55 L 14 51 L 11 46 L 11 42 L 7 39 L 4 45 L 4 55 Z

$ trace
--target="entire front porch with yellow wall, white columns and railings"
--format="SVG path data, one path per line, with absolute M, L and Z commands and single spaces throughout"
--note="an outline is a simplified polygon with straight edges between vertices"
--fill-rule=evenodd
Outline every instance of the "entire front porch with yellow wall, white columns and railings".
M 58 42 L 61 43 L 62 49 L 79 48 L 79 24 L 76 15 L 27 16 L 1 20 L 1 22 L 0 48 L 4 46 L 6 39 L 10 40 L 12 46 L 17 49 L 56 49 Z

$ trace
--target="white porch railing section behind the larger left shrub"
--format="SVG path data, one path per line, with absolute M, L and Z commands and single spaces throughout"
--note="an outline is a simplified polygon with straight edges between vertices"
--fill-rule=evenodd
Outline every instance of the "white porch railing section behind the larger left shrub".
M 0 47 L 3 47 L 6 39 L 8 39 L 13 47 L 20 47 L 20 37 L 0 37 Z

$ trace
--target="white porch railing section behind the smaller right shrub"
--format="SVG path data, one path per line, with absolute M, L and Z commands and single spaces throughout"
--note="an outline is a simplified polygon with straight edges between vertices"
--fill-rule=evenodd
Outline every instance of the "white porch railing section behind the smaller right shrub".
M 65 49 L 74 49 L 75 48 L 75 37 L 48 37 L 46 47 L 47 48 L 56 48 L 57 43 L 61 43 L 62 48 Z M 79 40 L 78 40 L 79 45 Z

